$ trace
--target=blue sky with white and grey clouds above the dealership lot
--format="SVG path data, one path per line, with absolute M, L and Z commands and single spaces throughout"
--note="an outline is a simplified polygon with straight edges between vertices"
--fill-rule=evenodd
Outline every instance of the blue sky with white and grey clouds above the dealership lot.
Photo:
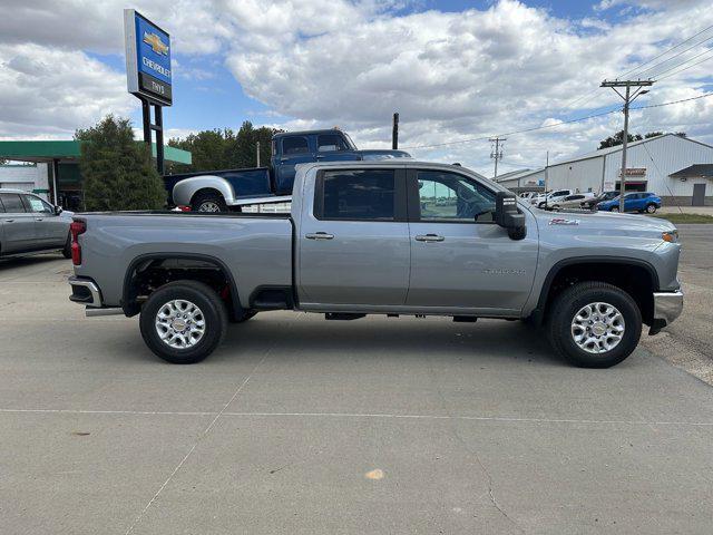
M 637 106 L 713 91 L 710 0 L 0 0 L 0 7 L 4 139 L 69 138 L 108 113 L 140 125 L 138 100 L 126 93 L 126 7 L 172 35 L 175 105 L 164 116 L 174 136 L 248 119 L 286 129 L 340 126 L 362 148 L 388 147 L 398 110 L 401 146 L 417 147 L 409 148 L 414 156 L 490 176 L 482 137 L 548 126 L 507 136 L 500 167 L 507 172 L 543 165 L 547 150 L 554 160 L 592 150 L 621 129 L 616 111 L 566 123 L 616 109 L 621 99 L 598 88 L 604 78 L 657 79 Z M 713 97 L 635 111 L 632 130 L 685 130 L 713 143 Z

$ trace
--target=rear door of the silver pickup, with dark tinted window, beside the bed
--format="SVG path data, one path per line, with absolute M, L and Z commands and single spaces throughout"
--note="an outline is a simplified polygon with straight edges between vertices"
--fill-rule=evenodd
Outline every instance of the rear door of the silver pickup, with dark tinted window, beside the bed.
M 302 193 L 301 307 L 359 311 L 404 304 L 410 245 L 403 169 L 320 171 Z

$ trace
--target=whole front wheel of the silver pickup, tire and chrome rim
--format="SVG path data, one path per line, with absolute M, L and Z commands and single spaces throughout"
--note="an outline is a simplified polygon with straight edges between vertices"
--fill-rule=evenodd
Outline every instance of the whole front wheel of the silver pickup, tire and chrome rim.
M 621 288 L 579 282 L 557 295 L 549 310 L 549 341 L 575 366 L 609 368 L 626 359 L 638 344 L 641 310 Z

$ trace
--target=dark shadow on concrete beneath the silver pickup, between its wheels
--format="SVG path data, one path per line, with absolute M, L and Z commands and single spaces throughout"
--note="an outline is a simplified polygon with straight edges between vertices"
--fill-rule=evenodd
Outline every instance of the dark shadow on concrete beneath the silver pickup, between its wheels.
M 307 314 L 312 315 L 312 314 Z M 453 323 L 447 318 L 385 319 L 373 317 L 355 321 L 321 320 L 301 315 L 291 322 L 258 314 L 247 323 L 232 325 L 209 361 L 233 360 L 242 354 L 270 351 L 271 361 L 309 359 L 360 362 L 384 359 L 458 359 L 470 361 L 512 360 L 561 366 L 544 332 L 522 323 L 480 320 Z

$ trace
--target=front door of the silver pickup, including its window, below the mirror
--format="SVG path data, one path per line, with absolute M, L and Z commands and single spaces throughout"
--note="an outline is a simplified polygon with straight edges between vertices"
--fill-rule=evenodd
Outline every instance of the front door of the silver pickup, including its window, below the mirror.
M 510 240 L 494 221 L 495 192 L 459 173 L 409 169 L 407 187 L 407 305 L 470 313 L 521 310 L 537 264 L 534 218 L 527 220 L 524 240 Z

